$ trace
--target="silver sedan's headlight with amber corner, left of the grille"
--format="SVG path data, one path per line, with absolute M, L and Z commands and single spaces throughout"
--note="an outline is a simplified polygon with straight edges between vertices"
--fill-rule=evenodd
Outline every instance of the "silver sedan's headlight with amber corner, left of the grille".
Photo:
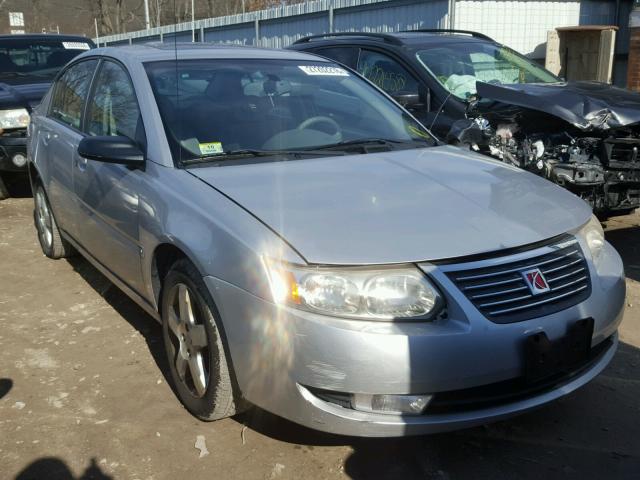
M 441 295 L 416 267 L 301 267 L 265 261 L 273 300 L 315 313 L 365 320 L 433 318 Z

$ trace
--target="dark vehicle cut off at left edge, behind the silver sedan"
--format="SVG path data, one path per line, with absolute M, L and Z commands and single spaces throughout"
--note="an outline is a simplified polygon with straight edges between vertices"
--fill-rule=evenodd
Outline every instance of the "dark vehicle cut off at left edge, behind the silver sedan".
M 27 127 L 53 77 L 76 55 L 95 48 L 72 35 L 0 35 L 0 200 L 12 174 L 26 178 Z M 70 101 L 73 92 L 67 92 Z

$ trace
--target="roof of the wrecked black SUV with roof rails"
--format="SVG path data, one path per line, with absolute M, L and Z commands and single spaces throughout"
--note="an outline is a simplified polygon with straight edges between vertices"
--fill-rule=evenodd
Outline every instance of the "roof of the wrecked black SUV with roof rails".
M 311 48 L 311 46 L 337 45 L 349 43 L 369 43 L 402 47 L 418 45 L 434 45 L 452 42 L 494 42 L 488 36 L 468 30 L 426 29 L 405 32 L 340 32 L 334 34 L 311 35 L 301 38 L 292 46 L 295 49 Z

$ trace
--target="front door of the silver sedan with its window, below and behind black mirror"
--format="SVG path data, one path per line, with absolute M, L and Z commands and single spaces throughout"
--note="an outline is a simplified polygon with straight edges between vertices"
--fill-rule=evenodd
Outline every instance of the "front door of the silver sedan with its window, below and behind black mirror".
M 125 68 L 103 60 L 87 102 L 84 131 L 93 136 L 125 136 L 145 149 L 135 90 Z M 77 157 L 73 189 L 82 212 L 78 241 L 132 289 L 142 292 L 138 236 L 139 185 L 144 171 Z

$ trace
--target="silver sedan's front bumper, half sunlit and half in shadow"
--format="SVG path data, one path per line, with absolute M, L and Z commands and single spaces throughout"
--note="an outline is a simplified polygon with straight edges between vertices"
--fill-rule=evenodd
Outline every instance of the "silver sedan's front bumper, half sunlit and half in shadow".
M 589 260 L 590 263 L 590 260 Z M 610 362 L 624 312 L 622 261 L 609 244 L 589 298 L 522 322 L 487 320 L 438 268 L 448 318 L 428 323 L 343 320 L 282 308 L 213 277 L 205 282 L 223 319 L 238 385 L 250 402 L 299 424 L 331 433 L 403 436 L 466 428 L 541 406 L 579 388 Z M 592 363 L 553 388 L 499 405 L 398 416 L 367 413 L 321 400 L 311 389 L 369 394 L 431 394 L 470 389 L 523 374 L 524 338 L 553 341 L 578 319 L 594 319 L 592 345 L 610 339 Z

